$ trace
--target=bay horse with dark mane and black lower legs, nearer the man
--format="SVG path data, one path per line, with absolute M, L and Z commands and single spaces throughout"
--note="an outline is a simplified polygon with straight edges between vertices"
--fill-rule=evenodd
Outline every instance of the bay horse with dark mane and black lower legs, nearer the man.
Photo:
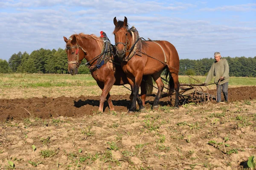
M 139 37 L 136 28 L 128 28 L 127 18 L 124 21 L 113 20 L 115 29 L 116 54 L 121 62 L 122 70 L 127 74 L 128 81 L 133 89 L 133 95 L 137 96 L 143 75 L 151 75 L 157 83 L 158 91 L 154 99 L 153 108 L 157 108 L 164 84 L 161 73 L 165 68 L 166 78 L 169 76 L 169 95 L 175 89 L 175 107 L 179 107 L 179 56 L 175 47 L 168 41 L 143 41 Z M 135 97 L 136 98 L 136 97 Z M 130 112 L 134 112 L 136 101 Z

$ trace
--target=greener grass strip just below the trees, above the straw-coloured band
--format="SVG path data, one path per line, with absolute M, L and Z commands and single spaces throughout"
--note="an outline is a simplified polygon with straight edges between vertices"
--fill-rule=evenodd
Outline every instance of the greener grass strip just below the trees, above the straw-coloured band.
M 180 83 L 201 84 L 206 76 L 192 76 L 199 82 L 188 76 L 179 76 Z M 213 79 L 210 83 L 213 82 Z M 73 87 L 96 86 L 96 81 L 90 74 L 0 74 L 0 86 L 2 88 L 37 88 L 37 87 Z M 229 85 L 256 85 L 253 77 L 230 77 Z

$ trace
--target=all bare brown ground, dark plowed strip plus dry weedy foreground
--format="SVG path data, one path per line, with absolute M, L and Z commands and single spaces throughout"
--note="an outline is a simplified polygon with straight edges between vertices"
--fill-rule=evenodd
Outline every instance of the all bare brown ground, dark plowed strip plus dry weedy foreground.
M 148 96 L 134 115 L 128 94 L 111 97 L 104 113 L 99 96 L 0 99 L 0 169 L 242 170 L 256 156 L 256 86 L 178 110 L 167 97 L 151 110 Z

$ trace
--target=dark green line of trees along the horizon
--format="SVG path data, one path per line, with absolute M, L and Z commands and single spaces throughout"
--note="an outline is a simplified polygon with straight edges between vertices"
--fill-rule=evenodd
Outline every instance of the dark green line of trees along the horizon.
M 256 77 L 256 56 L 253 57 L 223 57 L 227 59 L 232 77 Z M 180 59 L 180 75 L 207 75 L 214 58 Z M 84 63 L 79 67 L 79 74 L 90 74 Z M 28 54 L 18 52 L 9 61 L 0 59 L 0 73 L 41 73 L 68 74 L 67 54 L 65 49 L 39 49 Z

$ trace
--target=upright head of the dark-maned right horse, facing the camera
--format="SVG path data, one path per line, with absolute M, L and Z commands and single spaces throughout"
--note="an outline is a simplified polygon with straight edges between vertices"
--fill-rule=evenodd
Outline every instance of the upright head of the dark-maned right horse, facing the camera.
M 127 18 L 125 17 L 124 21 L 119 20 L 117 22 L 116 17 L 114 17 L 113 22 L 115 25 L 113 34 L 115 35 L 116 54 L 122 61 L 122 59 L 125 57 L 125 52 L 130 45 L 130 41 L 128 40 L 128 35 L 130 33 L 128 31 Z

